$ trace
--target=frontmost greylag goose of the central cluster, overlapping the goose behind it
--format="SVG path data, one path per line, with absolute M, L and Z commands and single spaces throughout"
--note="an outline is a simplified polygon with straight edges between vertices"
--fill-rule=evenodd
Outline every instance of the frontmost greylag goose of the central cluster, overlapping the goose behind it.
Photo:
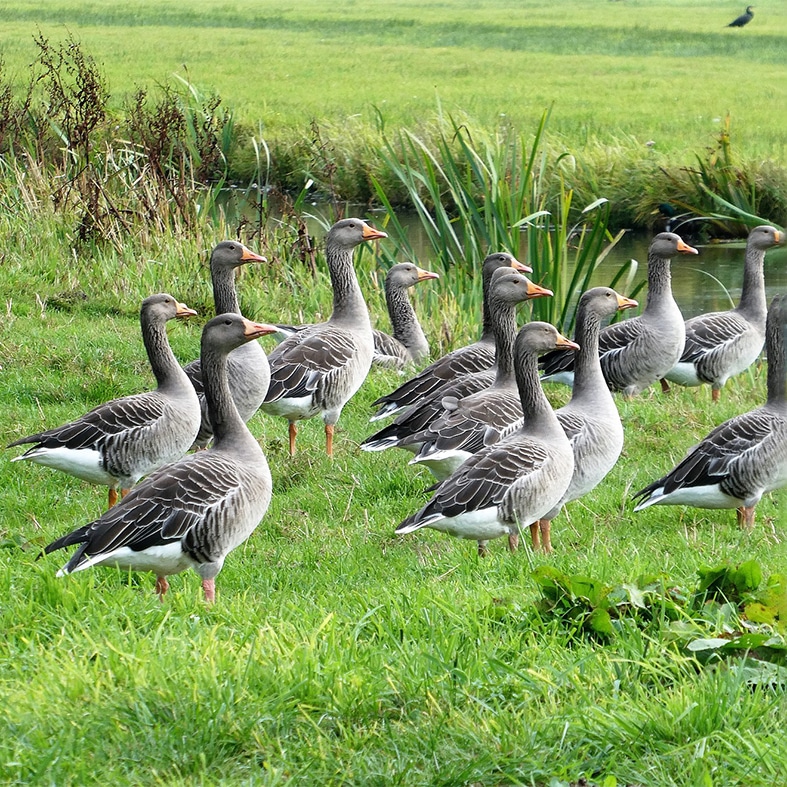
M 537 522 L 562 498 L 574 469 L 568 438 L 538 379 L 538 353 L 558 347 L 577 349 L 551 325 L 531 322 L 517 335 L 516 379 L 525 417 L 505 440 L 471 456 L 443 481 L 434 497 L 396 533 L 431 527 L 478 542 L 508 536 L 516 549 L 519 530 Z

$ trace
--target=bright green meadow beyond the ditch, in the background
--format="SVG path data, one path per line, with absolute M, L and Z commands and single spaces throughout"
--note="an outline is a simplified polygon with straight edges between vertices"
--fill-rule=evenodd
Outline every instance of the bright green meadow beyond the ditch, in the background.
M 572 147 L 631 135 L 680 158 L 709 144 L 729 112 L 746 156 L 778 160 L 787 12 L 771 3 L 745 30 L 727 29 L 739 11 L 733 0 L 15 0 L 0 30 L 12 72 L 26 73 L 37 29 L 55 41 L 70 31 L 114 95 L 177 73 L 273 137 L 312 118 L 373 124 L 377 112 L 415 128 L 439 98 L 447 112 L 517 127 L 554 105 L 550 133 Z

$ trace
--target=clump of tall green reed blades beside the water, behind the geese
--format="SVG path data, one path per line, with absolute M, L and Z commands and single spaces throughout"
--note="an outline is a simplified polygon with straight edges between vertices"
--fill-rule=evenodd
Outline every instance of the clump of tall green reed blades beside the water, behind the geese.
M 562 157 L 550 161 L 544 144 L 548 116 L 545 112 L 527 137 L 507 129 L 480 138 L 466 125 L 444 118 L 433 145 L 402 132 L 386 141 L 383 155 L 444 273 L 478 272 L 484 257 L 495 251 L 523 256 L 534 280 L 554 293 L 533 302 L 534 318 L 570 332 L 576 297 L 623 232 L 613 236 L 608 229 L 608 200 L 597 199 L 579 211 L 574 207 L 573 191 L 560 176 Z M 390 258 L 412 258 L 391 199 L 379 181 L 373 183 L 386 210 Z M 627 271 L 628 266 L 620 270 L 613 283 L 630 284 Z M 477 292 L 458 289 L 477 298 Z

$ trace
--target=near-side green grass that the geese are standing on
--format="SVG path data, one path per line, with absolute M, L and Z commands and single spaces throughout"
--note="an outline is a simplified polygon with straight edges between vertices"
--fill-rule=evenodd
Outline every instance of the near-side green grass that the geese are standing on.
M 51 216 L 3 221 L 4 442 L 151 384 L 136 315 L 143 293 L 166 289 L 209 313 L 196 242 L 132 240 L 124 254 L 71 258 Z M 226 228 L 203 231 L 209 247 Z M 372 251 L 360 262 L 367 292 Z M 244 312 L 265 320 L 290 316 L 307 289 L 306 302 L 329 302 L 324 275 L 313 283 L 294 265 L 250 268 L 239 288 Z M 452 313 L 453 294 L 441 297 L 426 319 L 432 337 Z M 369 300 L 379 317 L 382 298 Z M 202 319 L 170 326 L 184 361 Z M 477 330 L 470 316 L 451 327 L 454 342 Z M 634 514 L 629 501 L 712 425 L 761 401 L 763 372 L 728 384 L 718 406 L 705 389 L 620 402 L 624 455 L 556 520 L 551 558 L 493 543 L 479 560 L 473 544 L 438 533 L 392 535 L 429 483 L 403 455 L 358 450 L 394 372 L 376 371 L 348 405 L 333 462 L 318 423 L 303 426 L 290 460 L 285 423 L 255 416 L 275 494 L 228 558 L 212 608 L 193 574 L 173 579 L 164 604 L 147 575 L 56 578 L 64 555 L 38 560 L 39 548 L 97 516 L 105 495 L 12 464 L 8 451 L 0 781 L 773 784 L 787 761 L 781 689 L 748 685 L 734 662 L 701 668 L 660 629 L 625 628 L 607 645 L 579 637 L 536 612 L 530 576 L 554 565 L 608 584 L 663 574 L 690 586 L 701 565 L 728 560 L 782 571 L 783 494 L 760 504 L 750 535 L 733 512 Z M 560 403 L 566 389 L 549 395 Z

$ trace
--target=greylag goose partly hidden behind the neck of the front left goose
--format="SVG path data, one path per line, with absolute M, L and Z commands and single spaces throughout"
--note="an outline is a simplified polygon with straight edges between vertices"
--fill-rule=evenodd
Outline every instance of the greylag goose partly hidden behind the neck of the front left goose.
M 216 314 L 240 314 L 238 293 L 235 289 L 235 269 L 250 262 L 267 260 L 238 241 L 222 241 L 211 252 L 210 278 Z M 204 448 L 210 442 L 213 430 L 205 402 L 200 359 L 186 366 L 186 374 L 197 391 L 202 410 L 202 422 L 195 444 L 197 448 Z M 259 342 L 247 342 L 230 353 L 227 359 L 227 374 L 240 417 L 248 421 L 262 404 L 271 376 L 268 357 Z

